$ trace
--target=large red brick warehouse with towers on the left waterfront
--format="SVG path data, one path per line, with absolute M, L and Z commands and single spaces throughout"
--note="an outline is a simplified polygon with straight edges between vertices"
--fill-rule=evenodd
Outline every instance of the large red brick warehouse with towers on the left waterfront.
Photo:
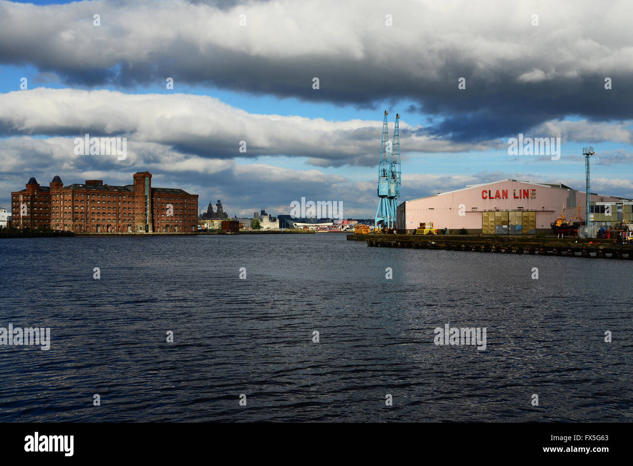
M 76 233 L 179 233 L 197 230 L 197 194 L 151 186 L 149 172 L 134 173 L 134 184 L 110 186 L 102 180 L 49 186 L 35 178 L 11 192 L 13 226 L 51 227 Z

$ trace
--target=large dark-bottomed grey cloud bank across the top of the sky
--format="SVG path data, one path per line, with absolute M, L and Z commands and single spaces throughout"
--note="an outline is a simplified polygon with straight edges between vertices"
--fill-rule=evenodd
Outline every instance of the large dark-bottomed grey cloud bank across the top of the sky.
M 173 77 L 176 87 L 358 106 L 405 99 L 442 115 L 427 134 L 481 142 L 567 115 L 633 118 L 633 35 L 622 21 L 632 13 L 624 1 L 589 0 L 0 1 L 0 63 L 28 63 L 67 85 Z

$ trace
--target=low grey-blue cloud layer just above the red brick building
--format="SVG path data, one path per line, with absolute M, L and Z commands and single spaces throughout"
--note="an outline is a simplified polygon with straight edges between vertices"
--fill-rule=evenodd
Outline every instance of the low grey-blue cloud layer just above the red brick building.
M 293 170 L 263 163 L 241 165 L 234 160 L 210 159 L 179 153 L 161 144 L 140 142 L 128 149 L 128 158 L 75 155 L 73 141 L 65 137 L 30 136 L 0 139 L 0 205 L 9 206 L 9 193 L 23 189 L 30 177 L 48 186 L 54 175 L 64 184 L 101 179 L 106 184 L 132 183 L 132 173 L 149 170 L 155 187 L 179 187 L 199 195 L 199 208 L 222 199 L 230 215 L 252 215 L 262 208 L 272 214 L 290 213 L 290 203 L 301 199 L 336 200 L 345 215 L 367 215 L 373 206 L 375 186 L 351 182 L 321 170 Z M 373 185 L 373 184 L 372 184 Z M 365 192 L 358 192 L 362 187 Z M 285 206 L 281 210 L 280 206 Z

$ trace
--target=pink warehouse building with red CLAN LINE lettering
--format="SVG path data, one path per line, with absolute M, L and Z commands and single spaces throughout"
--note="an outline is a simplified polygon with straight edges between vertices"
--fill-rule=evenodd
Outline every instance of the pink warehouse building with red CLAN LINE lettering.
M 619 203 L 622 198 L 591 193 L 592 202 Z M 432 222 L 434 229 L 482 234 L 534 234 L 551 232 L 550 224 L 563 206 L 586 217 L 586 194 L 564 184 L 501 180 L 475 184 L 456 191 L 404 201 L 396 215 L 398 230 Z M 567 215 L 570 211 L 566 211 Z M 596 218 L 596 220 L 598 220 Z M 615 219 L 614 219 L 615 220 Z

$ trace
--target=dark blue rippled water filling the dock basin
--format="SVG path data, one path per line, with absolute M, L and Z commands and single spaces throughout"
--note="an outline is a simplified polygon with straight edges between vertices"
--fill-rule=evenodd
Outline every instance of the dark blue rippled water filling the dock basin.
M 0 420 L 633 419 L 633 261 L 342 234 L 0 247 L 0 327 L 52 334 L 49 351 L 0 346 Z M 434 344 L 446 323 L 486 327 L 486 351 Z

